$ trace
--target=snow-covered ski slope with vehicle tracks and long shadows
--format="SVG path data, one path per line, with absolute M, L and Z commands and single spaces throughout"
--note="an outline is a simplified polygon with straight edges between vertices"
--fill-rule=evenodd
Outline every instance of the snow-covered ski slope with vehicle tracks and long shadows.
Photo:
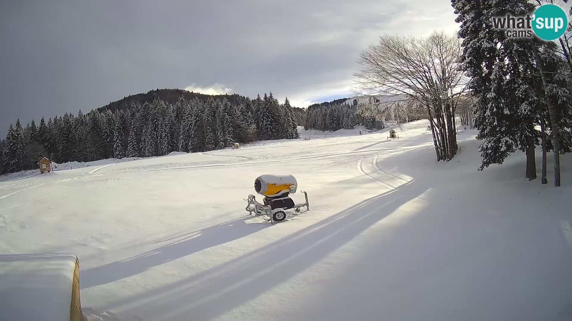
M 476 171 L 471 130 L 435 162 L 426 127 L 2 182 L 0 252 L 77 254 L 90 320 L 572 319 L 570 155 L 542 186 L 523 153 Z M 261 174 L 311 210 L 248 216 Z

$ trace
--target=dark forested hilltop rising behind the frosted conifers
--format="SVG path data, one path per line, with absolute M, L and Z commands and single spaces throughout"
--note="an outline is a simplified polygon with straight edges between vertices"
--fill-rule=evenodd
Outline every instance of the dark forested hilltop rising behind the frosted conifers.
M 186 91 L 183 89 L 156 89 L 150 90 L 145 94 L 129 95 L 115 102 L 109 102 L 108 105 L 98 108 L 97 110 L 102 112 L 105 110 L 110 110 L 115 113 L 117 110 L 126 111 L 129 106 L 139 105 L 143 106 L 145 103 L 153 103 L 155 99 L 160 99 L 165 103 L 170 103 L 175 105 L 179 97 L 185 98 L 186 101 L 192 101 L 194 98 L 198 98 L 202 102 L 208 101 L 210 98 L 214 98 L 220 101 L 227 99 L 232 106 L 246 105 L 246 101 L 249 99 L 247 97 L 241 96 L 239 94 L 231 95 L 206 95 L 200 93 L 193 93 L 192 91 Z

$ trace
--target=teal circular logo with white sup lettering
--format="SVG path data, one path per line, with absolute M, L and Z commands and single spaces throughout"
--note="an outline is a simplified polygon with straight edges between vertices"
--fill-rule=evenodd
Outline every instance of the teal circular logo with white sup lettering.
M 566 13 L 557 5 L 542 5 L 534 11 L 533 30 L 541 39 L 554 40 L 566 31 Z

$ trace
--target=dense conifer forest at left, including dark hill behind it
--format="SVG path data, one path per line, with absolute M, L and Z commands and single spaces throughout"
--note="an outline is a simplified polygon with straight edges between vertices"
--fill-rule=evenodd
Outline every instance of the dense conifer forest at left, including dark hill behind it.
M 174 101 L 172 95 L 140 95 L 129 104 L 124 98 L 86 114 L 80 110 L 76 115 L 42 117 L 26 126 L 18 119 L 9 126 L 6 139 L 0 140 L 1 172 L 37 168 L 42 157 L 56 163 L 89 162 L 209 151 L 233 142 L 294 139 L 299 137 L 296 127 L 304 116 L 288 98 L 279 103 L 272 93 L 253 100 L 190 93 L 191 97 L 179 95 Z

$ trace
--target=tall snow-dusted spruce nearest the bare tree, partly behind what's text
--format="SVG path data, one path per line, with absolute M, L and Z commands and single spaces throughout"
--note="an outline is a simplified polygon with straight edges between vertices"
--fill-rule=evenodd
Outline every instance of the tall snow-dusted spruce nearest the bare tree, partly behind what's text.
M 456 22 L 462 23 L 459 38 L 463 38 L 462 70 L 470 77 L 468 84 L 475 97 L 475 127 L 483 162 L 479 170 L 490 164 L 502 163 L 516 149 L 529 151 L 526 176 L 536 177 L 534 145 L 538 134 L 534 131 L 536 113 L 533 90 L 529 83 L 530 54 L 526 41 L 506 39 L 503 31 L 492 27 L 491 17 L 512 11 L 515 15 L 531 12 L 524 0 L 466 1 L 452 0 Z M 530 52 L 530 51 L 529 51 Z M 527 56 L 528 55 L 528 56 Z

